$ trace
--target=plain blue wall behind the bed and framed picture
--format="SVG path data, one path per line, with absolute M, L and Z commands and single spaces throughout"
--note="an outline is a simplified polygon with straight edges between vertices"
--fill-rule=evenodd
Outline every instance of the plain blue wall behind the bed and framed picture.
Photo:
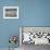
M 20 8 L 18 20 L 3 18 L 7 5 Z M 0 0 L 0 47 L 9 47 L 10 35 L 18 36 L 20 26 L 50 26 L 50 0 Z

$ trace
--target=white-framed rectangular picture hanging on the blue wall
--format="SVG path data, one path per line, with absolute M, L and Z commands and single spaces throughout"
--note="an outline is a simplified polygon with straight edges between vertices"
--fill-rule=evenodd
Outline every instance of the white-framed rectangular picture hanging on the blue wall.
M 3 7 L 3 18 L 18 18 L 18 7 Z

